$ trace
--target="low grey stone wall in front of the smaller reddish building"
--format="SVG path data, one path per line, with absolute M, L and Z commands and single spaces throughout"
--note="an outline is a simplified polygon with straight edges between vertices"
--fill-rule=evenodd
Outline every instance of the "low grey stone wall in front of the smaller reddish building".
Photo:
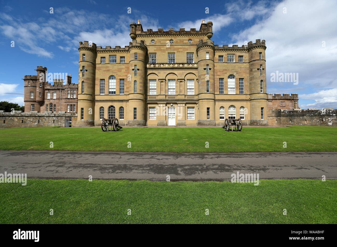
M 75 113 L 51 113 L 51 112 L 3 112 L 0 111 L 0 128 L 22 128 L 22 127 L 45 127 L 45 126 L 66 126 L 66 118 L 72 118 L 75 125 L 77 114 Z

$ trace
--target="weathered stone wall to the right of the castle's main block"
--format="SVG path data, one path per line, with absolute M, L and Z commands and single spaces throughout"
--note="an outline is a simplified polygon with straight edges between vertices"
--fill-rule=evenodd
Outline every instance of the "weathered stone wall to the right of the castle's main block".
M 337 110 L 268 110 L 270 126 L 302 125 L 302 126 L 337 126 Z

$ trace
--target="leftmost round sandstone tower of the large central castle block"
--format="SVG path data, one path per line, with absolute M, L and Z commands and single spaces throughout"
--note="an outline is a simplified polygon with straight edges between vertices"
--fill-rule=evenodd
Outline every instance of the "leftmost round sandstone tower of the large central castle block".
M 96 44 L 80 42 L 79 52 L 78 124 L 94 126 Z

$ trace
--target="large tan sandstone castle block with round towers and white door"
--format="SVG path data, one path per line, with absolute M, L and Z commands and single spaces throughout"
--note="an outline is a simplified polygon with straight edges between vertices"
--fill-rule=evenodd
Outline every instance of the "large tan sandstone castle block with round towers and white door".
M 268 125 L 265 41 L 219 47 L 212 26 L 144 31 L 138 20 L 124 48 L 80 42 L 78 125 Z

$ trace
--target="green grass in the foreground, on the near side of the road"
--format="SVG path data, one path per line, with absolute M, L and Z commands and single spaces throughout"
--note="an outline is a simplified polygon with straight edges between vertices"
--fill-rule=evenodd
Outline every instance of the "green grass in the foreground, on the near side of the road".
M 337 223 L 336 192 L 337 180 L 319 179 L 28 179 L 0 184 L 0 223 Z

